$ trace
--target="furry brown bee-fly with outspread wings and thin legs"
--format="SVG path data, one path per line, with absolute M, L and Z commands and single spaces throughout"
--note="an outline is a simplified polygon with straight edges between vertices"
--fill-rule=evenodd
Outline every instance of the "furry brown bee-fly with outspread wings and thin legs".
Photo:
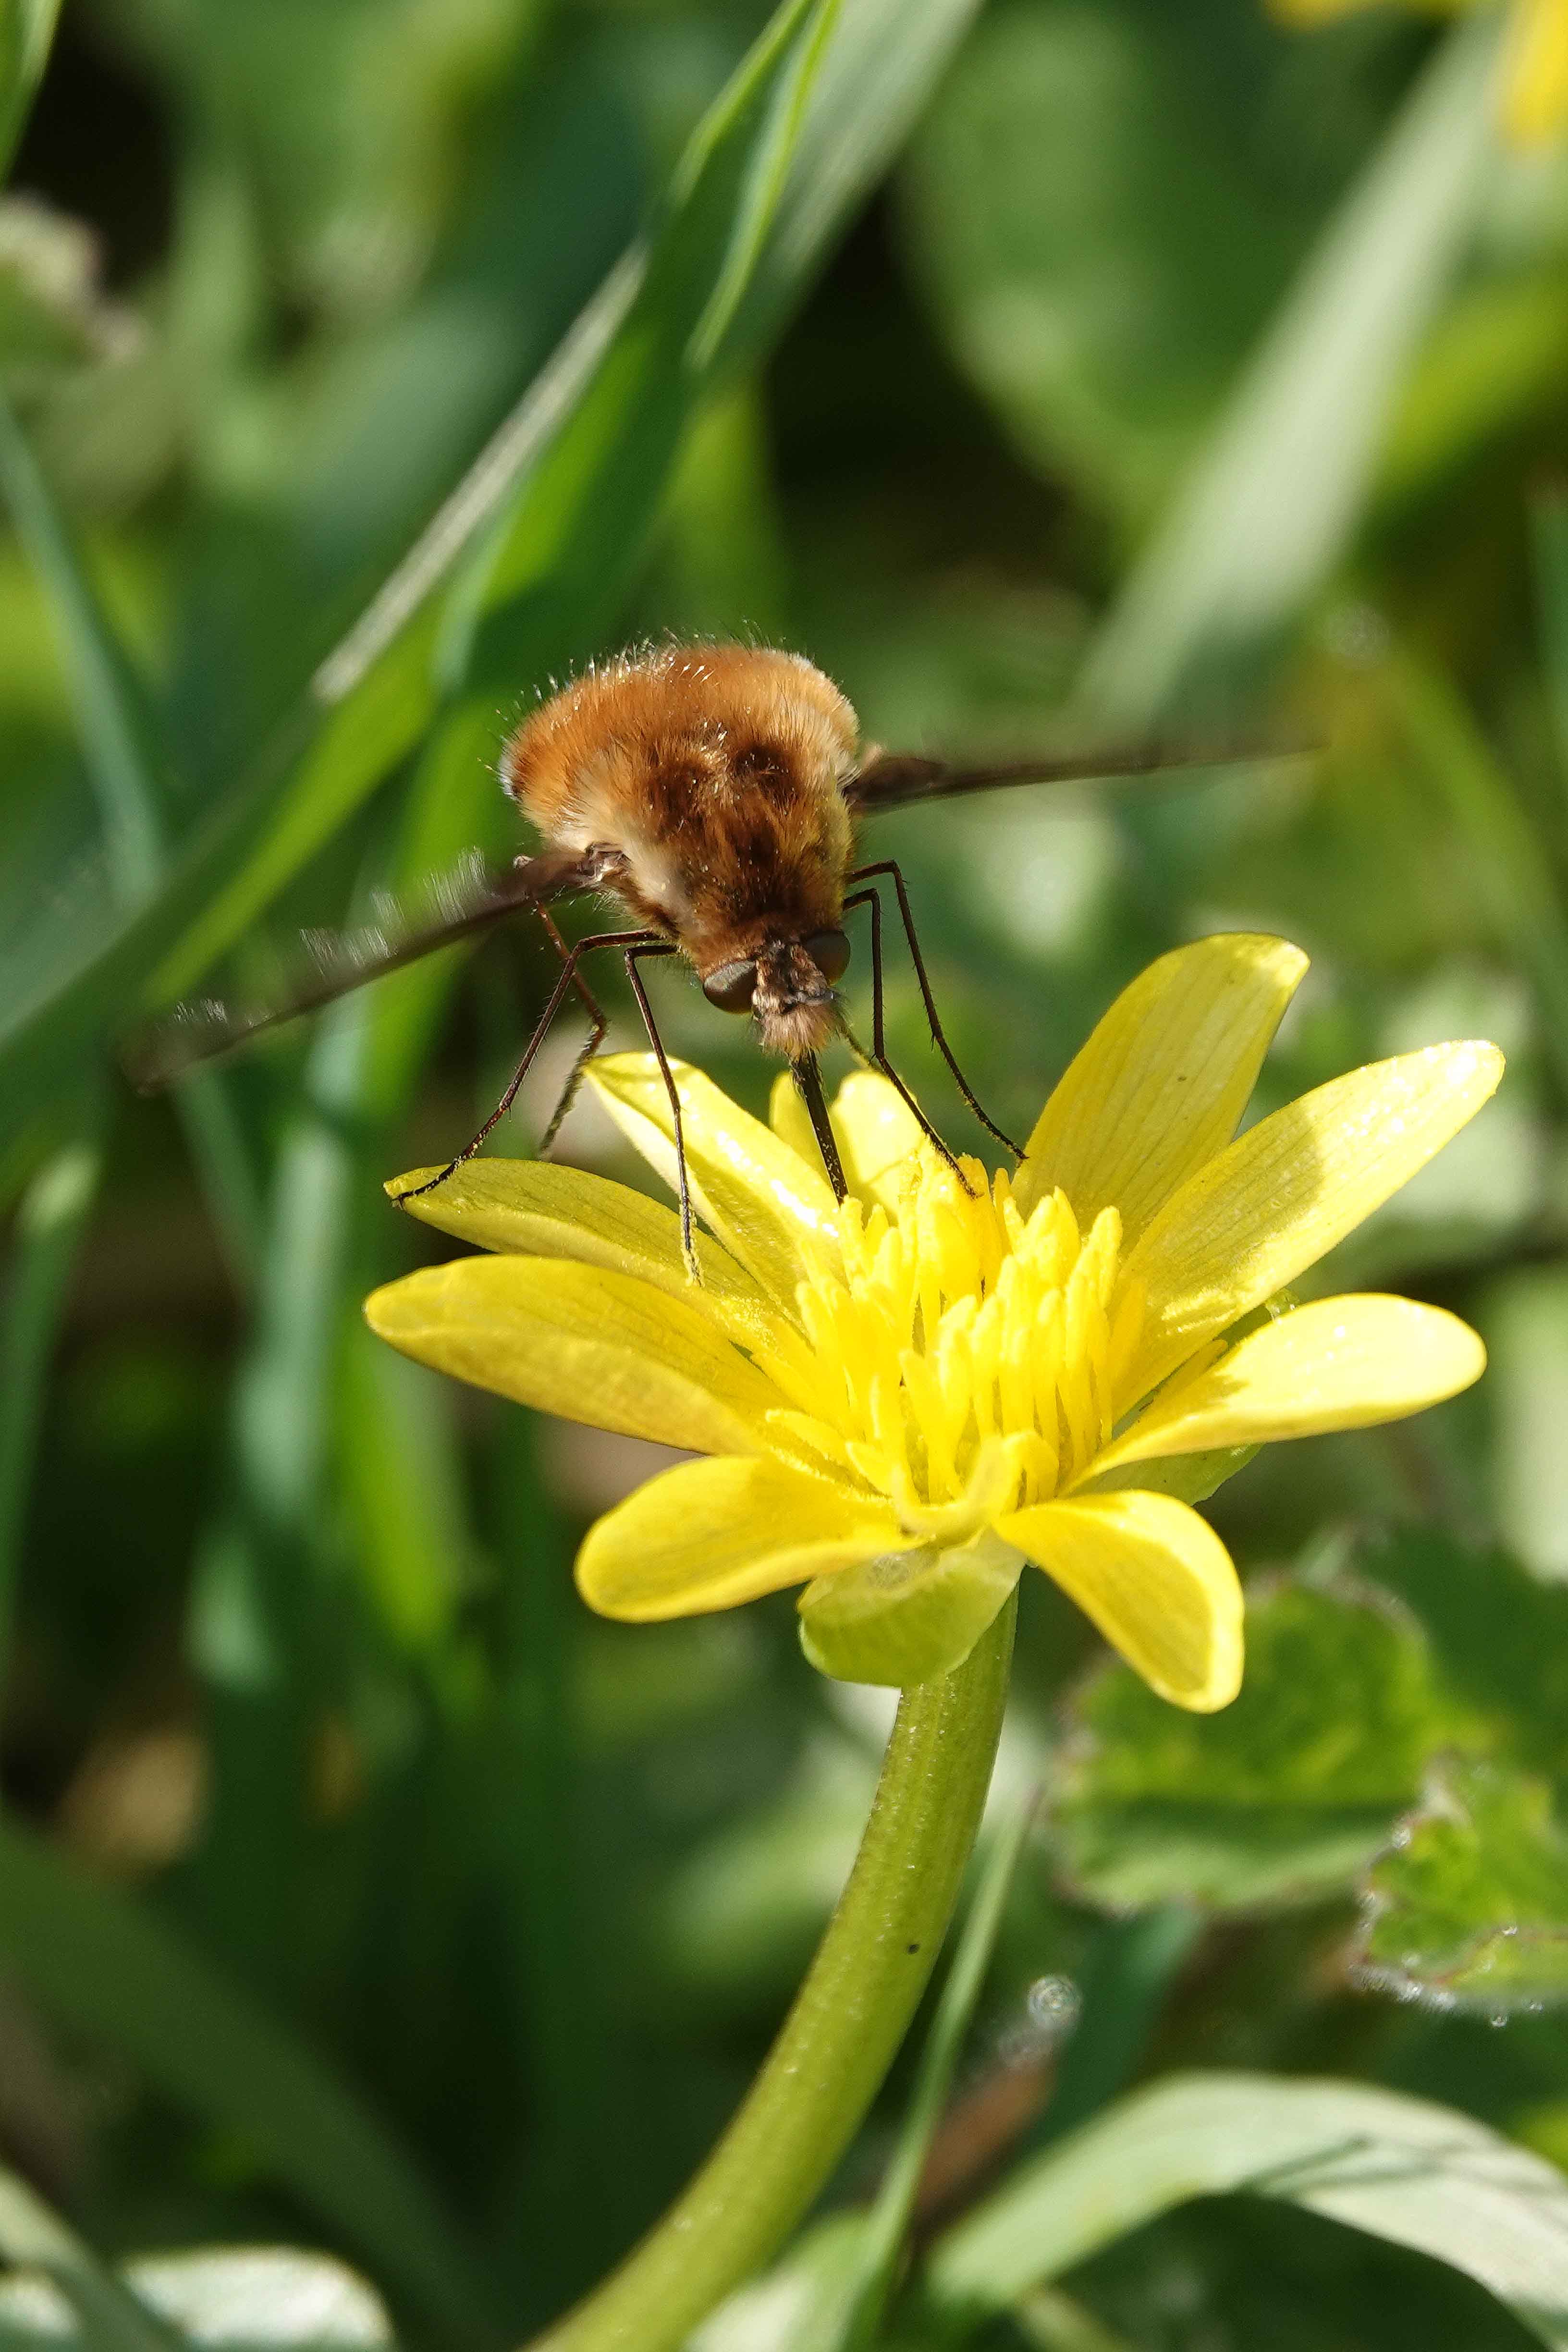
M 480 1150 L 510 1110 L 567 995 L 576 993 L 590 1037 L 541 1141 L 541 1152 L 548 1150 L 607 1030 L 583 962 L 611 948 L 625 964 L 670 1096 L 682 1244 L 691 1265 L 679 1094 L 639 967 L 679 955 L 693 967 L 710 1004 L 752 1016 L 764 1051 L 790 1063 L 827 1181 L 844 1200 L 844 1169 L 827 1122 L 818 1054 L 835 1033 L 846 1035 L 837 983 L 849 969 L 844 920 L 858 908 L 870 915 L 867 1058 L 891 1080 L 931 1143 L 952 1157 L 886 1056 L 879 894 L 886 882 L 931 1037 L 980 1124 L 1018 1155 L 1018 1145 L 976 1101 L 947 1044 L 896 861 L 856 866 L 856 818 L 994 783 L 1138 774 L 1168 764 L 1171 757 L 1168 746 L 1145 743 L 1095 753 L 1093 760 L 1048 757 L 959 769 L 940 760 L 891 755 L 877 746 L 860 748 L 856 713 L 799 654 L 745 644 L 672 644 L 623 654 L 559 689 L 505 743 L 501 783 L 543 835 L 538 854 L 520 856 L 501 875 L 470 873 L 456 889 L 447 889 L 437 920 L 423 929 L 397 934 L 381 927 L 369 938 L 350 934 L 324 955 L 317 953 L 315 981 L 275 1011 L 235 1016 L 212 1002 L 181 1007 L 132 1056 L 134 1073 L 143 1084 L 165 1084 L 193 1061 L 226 1051 L 259 1028 L 324 1004 L 517 910 L 534 910 L 562 969 L 527 1051 L 477 1136 L 402 1200 L 433 1192 Z M 632 927 L 595 931 L 569 948 L 550 903 L 578 891 L 609 894 L 632 917 Z

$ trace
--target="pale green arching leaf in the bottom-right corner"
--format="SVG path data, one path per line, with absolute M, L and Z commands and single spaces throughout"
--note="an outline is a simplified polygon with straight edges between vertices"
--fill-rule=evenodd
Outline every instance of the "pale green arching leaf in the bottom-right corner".
M 950 2321 L 1004 2312 L 1190 2197 L 1298 2204 L 1465 2272 L 1542 2343 L 1568 2345 L 1568 2180 L 1422 2098 L 1352 2082 L 1175 2074 L 1020 2166 L 938 2239 Z

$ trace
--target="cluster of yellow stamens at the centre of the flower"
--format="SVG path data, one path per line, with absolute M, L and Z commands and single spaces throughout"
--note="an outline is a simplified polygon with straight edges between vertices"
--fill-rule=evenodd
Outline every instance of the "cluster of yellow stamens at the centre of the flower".
M 1081 1235 L 1063 1192 L 1023 1218 L 1004 1171 L 964 1174 L 922 1150 L 896 1214 L 844 1202 L 842 1265 L 811 1265 L 762 1355 L 788 1435 L 943 1543 L 1084 1475 L 1138 1324 L 1117 1209 Z

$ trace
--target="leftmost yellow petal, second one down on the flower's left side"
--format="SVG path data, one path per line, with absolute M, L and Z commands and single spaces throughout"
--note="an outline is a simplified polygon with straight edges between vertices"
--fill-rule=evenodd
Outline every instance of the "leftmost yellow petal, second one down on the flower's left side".
M 454 1258 L 371 1291 L 364 1317 L 475 1388 L 696 1454 L 759 1451 L 783 1404 L 701 1308 L 599 1265 Z

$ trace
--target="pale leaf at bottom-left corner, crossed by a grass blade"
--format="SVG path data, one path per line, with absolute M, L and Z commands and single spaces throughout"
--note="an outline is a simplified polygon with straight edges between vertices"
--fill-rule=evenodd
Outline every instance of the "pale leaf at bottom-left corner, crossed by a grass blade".
M 33 2258 L 35 2263 L 38 2258 Z M 343 2263 L 299 2246 L 202 2246 L 141 2256 L 120 2267 L 122 2293 L 155 2321 L 214 2352 L 390 2352 L 381 2298 Z M 87 2312 L 82 2312 L 87 2321 Z M 141 2319 L 143 2340 L 167 2345 Z M 75 2324 L 71 2303 L 42 2267 L 0 2281 L 0 2338 L 7 2352 L 96 2352 L 101 2338 Z

